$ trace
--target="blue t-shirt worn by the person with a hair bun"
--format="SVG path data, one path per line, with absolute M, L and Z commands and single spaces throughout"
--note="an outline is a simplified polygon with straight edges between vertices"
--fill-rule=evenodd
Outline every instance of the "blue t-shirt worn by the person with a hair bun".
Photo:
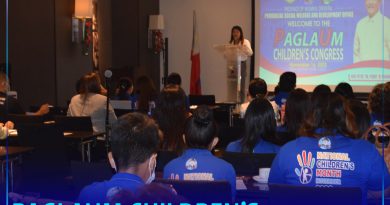
M 232 196 L 236 195 L 236 172 L 231 164 L 219 159 L 205 149 L 187 149 L 182 156 L 164 167 L 165 179 L 176 180 L 226 180 Z

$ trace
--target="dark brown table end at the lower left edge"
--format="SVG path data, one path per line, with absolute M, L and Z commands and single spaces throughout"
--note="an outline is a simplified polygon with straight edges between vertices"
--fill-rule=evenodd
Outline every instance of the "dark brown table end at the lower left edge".
M 5 181 L 5 172 L 7 164 L 9 165 L 10 190 L 14 187 L 14 162 L 20 159 L 20 156 L 32 151 L 33 147 L 14 147 L 0 146 L 0 163 L 1 163 L 1 182 Z

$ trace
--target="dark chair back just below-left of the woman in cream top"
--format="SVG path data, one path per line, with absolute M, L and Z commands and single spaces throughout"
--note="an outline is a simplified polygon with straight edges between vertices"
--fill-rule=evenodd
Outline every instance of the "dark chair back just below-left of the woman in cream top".
M 57 115 L 54 117 L 54 121 L 64 131 L 93 131 L 90 116 L 71 117 Z

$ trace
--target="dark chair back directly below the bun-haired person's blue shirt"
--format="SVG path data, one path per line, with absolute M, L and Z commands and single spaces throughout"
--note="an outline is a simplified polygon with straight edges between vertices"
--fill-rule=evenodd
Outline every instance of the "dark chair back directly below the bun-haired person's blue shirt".
M 180 196 L 192 203 L 230 203 L 232 201 L 232 190 L 228 181 L 159 179 L 155 183 L 170 185 Z

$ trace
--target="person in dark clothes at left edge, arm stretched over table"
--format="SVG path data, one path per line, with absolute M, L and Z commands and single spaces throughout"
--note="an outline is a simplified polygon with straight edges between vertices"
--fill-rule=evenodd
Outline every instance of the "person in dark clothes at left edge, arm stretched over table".
M 7 95 L 8 91 L 7 75 L 0 72 L 0 121 L 6 122 L 6 127 L 10 128 L 9 126 L 13 125 L 13 123 L 8 122 L 9 114 L 45 115 L 49 112 L 49 104 L 43 104 L 37 112 L 26 113 L 16 98 Z

